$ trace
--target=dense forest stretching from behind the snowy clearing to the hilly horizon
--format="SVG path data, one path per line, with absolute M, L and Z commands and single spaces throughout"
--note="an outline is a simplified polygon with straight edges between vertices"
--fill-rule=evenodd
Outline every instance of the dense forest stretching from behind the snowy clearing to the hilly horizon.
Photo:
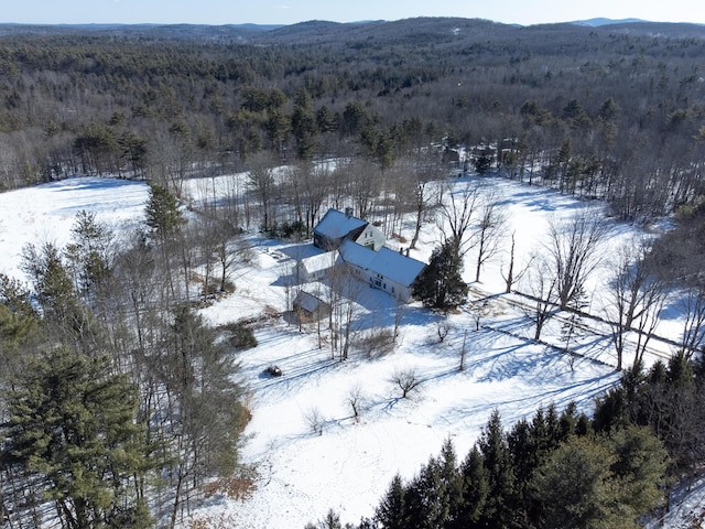
M 189 31 L 191 30 L 191 31 Z M 188 26 L 0 37 L 0 185 L 67 174 L 164 182 L 419 145 L 607 199 L 622 218 L 699 196 L 699 26 L 481 20 Z

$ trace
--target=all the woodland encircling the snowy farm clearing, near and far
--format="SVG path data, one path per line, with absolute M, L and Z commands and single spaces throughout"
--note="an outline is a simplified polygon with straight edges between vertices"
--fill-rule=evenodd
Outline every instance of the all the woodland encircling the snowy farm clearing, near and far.
M 227 352 L 256 342 L 197 312 L 236 288 L 242 231 L 305 237 L 351 202 L 389 237 L 414 215 L 413 248 L 424 212 L 443 207 L 426 184 L 473 170 L 604 199 L 620 220 L 673 214 L 677 229 L 615 270 L 615 346 L 621 368 L 622 332 L 648 335 L 649 307 L 685 285 L 681 355 L 650 370 L 637 357 L 592 419 L 551 408 L 505 432 L 494 417 L 464 463 L 448 444 L 395 479 L 364 527 L 568 527 L 568 508 L 611 523 L 579 527 L 633 527 L 666 469 L 673 482 L 705 457 L 703 56 L 705 29 L 687 24 L 0 28 L 0 190 L 72 175 L 150 184 L 137 233 L 84 212 L 65 248 L 25 246 L 31 287 L 0 276 L 0 520 L 174 527 L 207 487 L 248 488 L 237 449 L 249 411 Z M 186 179 L 243 171 L 247 190 L 225 199 L 183 193 Z M 470 217 L 445 213 L 459 261 Z M 571 309 L 581 287 L 555 303 Z M 594 469 L 581 499 L 605 510 L 561 497 L 576 457 Z

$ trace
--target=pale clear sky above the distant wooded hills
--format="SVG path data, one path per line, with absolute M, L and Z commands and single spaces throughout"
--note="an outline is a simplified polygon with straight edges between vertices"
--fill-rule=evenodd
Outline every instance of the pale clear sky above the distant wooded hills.
M 705 0 L 0 0 L 0 22 L 293 24 L 412 17 L 535 24 L 598 17 L 705 23 Z

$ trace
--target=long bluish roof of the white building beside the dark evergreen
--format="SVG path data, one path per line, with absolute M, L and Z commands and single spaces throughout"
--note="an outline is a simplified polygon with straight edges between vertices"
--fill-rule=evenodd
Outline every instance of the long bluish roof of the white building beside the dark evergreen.
M 405 287 L 411 285 L 425 267 L 423 262 L 389 248 L 375 251 L 351 240 L 344 240 L 339 251 L 346 262 L 379 273 Z

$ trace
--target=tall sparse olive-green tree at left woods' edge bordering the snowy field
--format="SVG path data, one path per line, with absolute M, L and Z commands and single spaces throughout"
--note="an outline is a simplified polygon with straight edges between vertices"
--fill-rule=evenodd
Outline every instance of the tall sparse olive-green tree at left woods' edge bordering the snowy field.
M 164 439 L 176 460 L 173 523 L 192 487 L 208 477 L 229 476 L 237 465 L 239 434 L 248 415 L 234 380 L 237 366 L 217 337 L 189 305 L 180 305 L 162 355 L 150 358 L 169 395 L 169 421 L 178 425 Z

